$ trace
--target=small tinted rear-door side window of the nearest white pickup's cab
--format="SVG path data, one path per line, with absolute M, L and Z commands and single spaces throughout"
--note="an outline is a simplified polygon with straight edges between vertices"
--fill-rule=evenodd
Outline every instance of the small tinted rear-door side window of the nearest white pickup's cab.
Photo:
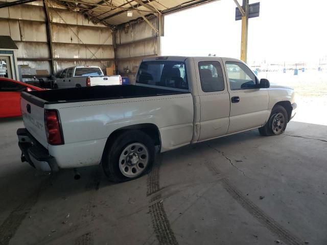
M 199 72 L 203 92 L 215 92 L 225 89 L 223 71 L 218 61 L 199 62 Z

